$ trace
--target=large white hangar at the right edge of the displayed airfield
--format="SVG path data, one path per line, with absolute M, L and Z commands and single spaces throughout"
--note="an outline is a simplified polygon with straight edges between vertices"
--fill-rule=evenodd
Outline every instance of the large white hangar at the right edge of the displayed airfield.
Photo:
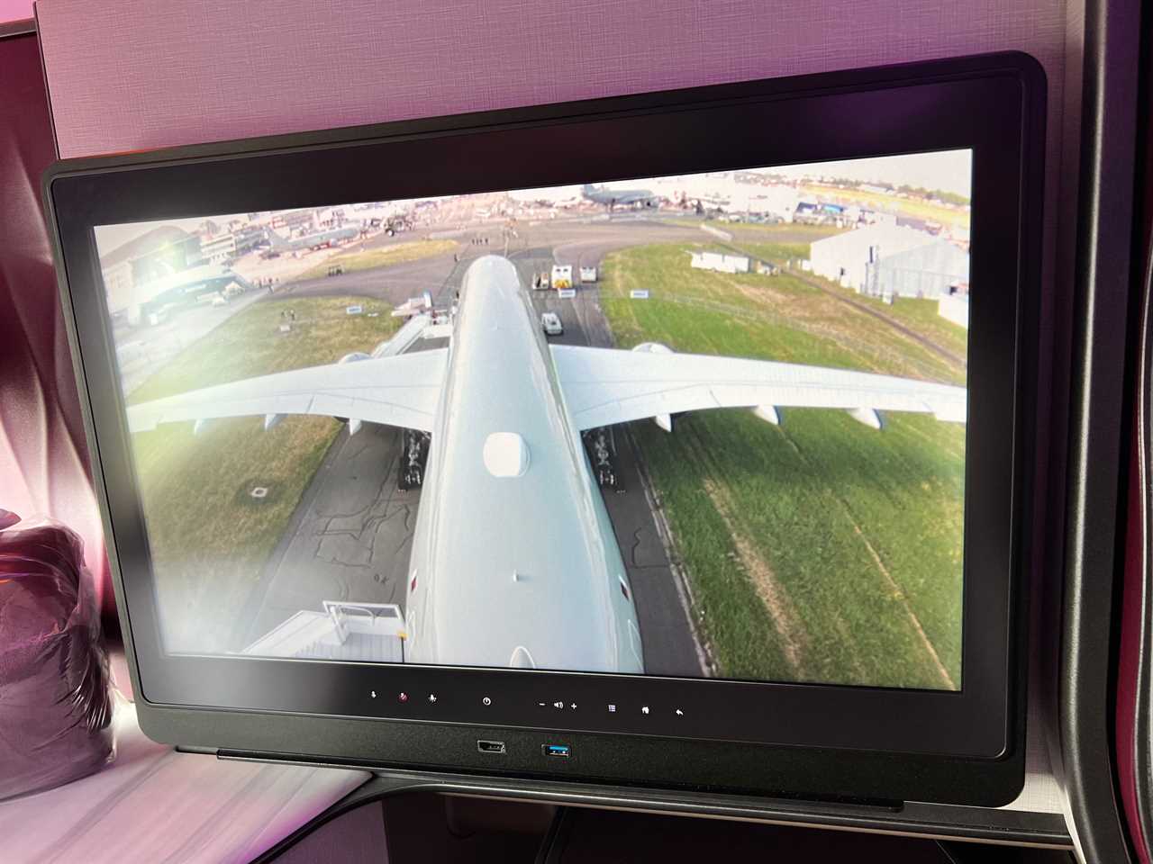
M 898 225 L 877 223 L 815 241 L 813 272 L 858 294 L 940 297 L 969 282 L 969 253 L 947 240 Z

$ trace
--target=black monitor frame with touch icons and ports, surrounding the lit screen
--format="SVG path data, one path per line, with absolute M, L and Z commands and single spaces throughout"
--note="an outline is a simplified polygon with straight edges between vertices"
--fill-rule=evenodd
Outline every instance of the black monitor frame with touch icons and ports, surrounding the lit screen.
M 1010 53 L 58 162 L 44 196 L 142 727 L 274 758 L 1010 799 L 1024 765 L 1045 92 L 1037 62 Z M 973 150 L 972 282 L 997 288 L 971 300 L 959 692 L 161 650 L 93 226 L 960 147 Z M 588 708 L 538 706 L 558 698 Z M 597 710 L 610 702 L 627 708 Z M 492 737 L 498 759 L 477 752 Z M 541 758 L 553 741 L 572 758 Z

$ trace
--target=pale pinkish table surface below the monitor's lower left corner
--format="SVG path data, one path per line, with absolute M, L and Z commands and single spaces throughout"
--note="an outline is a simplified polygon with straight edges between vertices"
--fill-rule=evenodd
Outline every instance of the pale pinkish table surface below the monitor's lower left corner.
M 66 786 L 0 802 L 5 864 L 249 862 L 370 776 L 221 761 L 144 736 L 119 699 L 116 758 Z

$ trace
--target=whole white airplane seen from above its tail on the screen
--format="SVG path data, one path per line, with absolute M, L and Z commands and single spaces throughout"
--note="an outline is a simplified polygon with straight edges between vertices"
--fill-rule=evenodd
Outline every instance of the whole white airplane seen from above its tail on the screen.
M 417 325 L 412 325 L 413 327 Z M 643 672 L 633 589 L 581 441 L 585 430 L 711 408 L 879 410 L 964 423 L 966 392 L 756 359 L 549 344 L 515 267 L 465 274 L 447 348 L 348 355 L 128 409 L 160 423 L 284 415 L 431 433 L 407 574 L 405 662 Z M 393 615 L 399 611 L 393 608 Z M 321 613 L 315 613 L 321 615 Z

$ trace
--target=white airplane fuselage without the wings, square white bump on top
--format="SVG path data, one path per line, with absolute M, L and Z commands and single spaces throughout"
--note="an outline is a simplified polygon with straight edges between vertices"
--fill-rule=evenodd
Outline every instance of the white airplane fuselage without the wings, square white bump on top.
M 406 662 L 643 672 L 636 609 L 527 290 L 465 275 L 408 569 Z

